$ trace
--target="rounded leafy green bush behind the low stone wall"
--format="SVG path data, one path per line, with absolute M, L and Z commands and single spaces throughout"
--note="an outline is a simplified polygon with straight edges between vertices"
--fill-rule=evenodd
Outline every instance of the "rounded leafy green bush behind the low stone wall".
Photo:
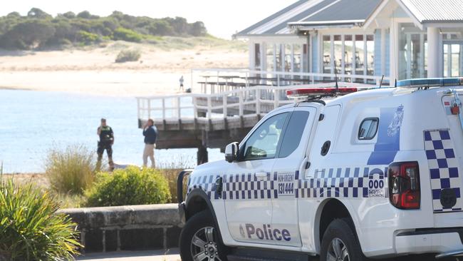
M 146 205 L 170 202 L 169 184 L 159 170 L 128 167 L 113 173 L 98 173 L 85 191 L 88 207 Z

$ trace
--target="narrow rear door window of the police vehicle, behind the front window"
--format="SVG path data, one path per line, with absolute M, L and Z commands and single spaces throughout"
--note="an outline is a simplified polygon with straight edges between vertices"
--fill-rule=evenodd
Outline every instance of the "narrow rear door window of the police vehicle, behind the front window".
M 288 157 L 291 155 L 299 143 L 301 143 L 302 133 L 306 127 L 308 119 L 308 111 L 294 111 L 288 121 L 288 127 L 284 133 L 279 152 L 279 158 Z

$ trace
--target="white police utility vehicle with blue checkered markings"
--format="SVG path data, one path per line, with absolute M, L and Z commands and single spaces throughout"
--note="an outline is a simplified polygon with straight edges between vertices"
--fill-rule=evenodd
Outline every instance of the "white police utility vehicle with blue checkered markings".
M 189 175 L 182 260 L 462 255 L 463 78 L 287 94 Z

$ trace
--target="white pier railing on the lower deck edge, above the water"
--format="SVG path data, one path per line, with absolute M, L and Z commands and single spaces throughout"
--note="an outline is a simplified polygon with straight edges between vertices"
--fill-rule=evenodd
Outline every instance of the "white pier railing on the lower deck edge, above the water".
M 221 93 L 137 97 L 137 116 L 162 122 L 262 115 L 294 102 L 286 98 L 286 89 L 287 86 L 252 86 Z

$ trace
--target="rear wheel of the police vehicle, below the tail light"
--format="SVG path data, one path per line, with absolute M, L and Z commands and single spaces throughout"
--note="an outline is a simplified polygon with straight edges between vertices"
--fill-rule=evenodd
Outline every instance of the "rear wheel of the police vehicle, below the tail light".
M 333 220 L 321 240 L 321 261 L 365 261 L 348 218 Z

